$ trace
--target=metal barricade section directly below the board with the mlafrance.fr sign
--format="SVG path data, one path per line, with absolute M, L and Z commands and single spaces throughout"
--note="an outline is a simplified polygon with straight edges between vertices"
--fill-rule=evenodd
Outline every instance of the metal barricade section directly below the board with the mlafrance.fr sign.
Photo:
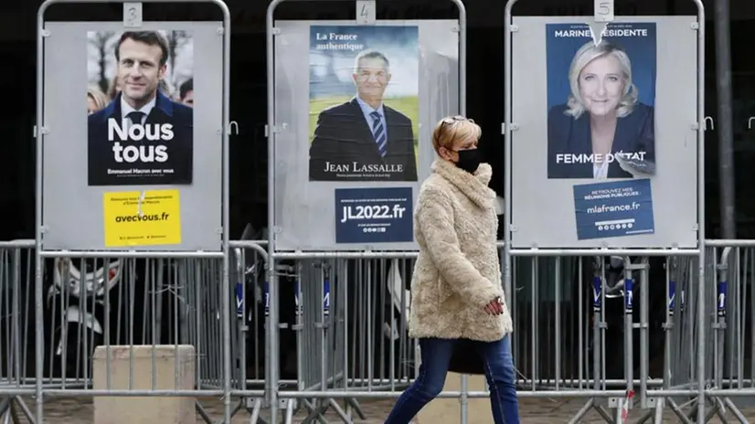
M 589 398 L 575 422 L 590 408 L 612 422 L 606 407 L 619 413 L 624 405 L 654 409 L 647 418 L 661 419 L 665 403 L 644 396 L 646 389 L 695 382 L 689 355 L 696 350 L 695 315 L 686 307 L 694 302 L 693 263 L 679 257 L 517 258 L 512 309 L 520 396 Z

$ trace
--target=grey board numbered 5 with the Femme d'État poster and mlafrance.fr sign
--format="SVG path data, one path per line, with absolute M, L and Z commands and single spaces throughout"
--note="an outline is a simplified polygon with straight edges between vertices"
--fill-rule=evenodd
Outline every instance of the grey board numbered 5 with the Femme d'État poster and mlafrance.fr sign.
M 696 23 L 512 17 L 513 249 L 697 247 Z

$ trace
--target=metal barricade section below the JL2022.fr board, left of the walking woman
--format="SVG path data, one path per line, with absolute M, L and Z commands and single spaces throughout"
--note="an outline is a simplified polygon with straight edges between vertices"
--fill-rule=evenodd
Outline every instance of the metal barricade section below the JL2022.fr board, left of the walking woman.
M 395 397 L 414 376 L 407 319 L 415 254 L 280 256 L 276 269 L 294 271 L 279 271 L 283 375 L 290 374 L 286 345 L 296 346 L 297 358 L 295 382 L 283 379 L 278 394 L 284 421 L 302 408 L 304 422 L 324 419 L 328 410 L 344 422 L 366 418 L 358 398 Z

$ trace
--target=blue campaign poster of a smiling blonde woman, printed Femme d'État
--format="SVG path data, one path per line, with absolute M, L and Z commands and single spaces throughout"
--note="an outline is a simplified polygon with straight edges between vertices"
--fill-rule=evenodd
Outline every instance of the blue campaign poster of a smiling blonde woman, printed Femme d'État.
M 654 23 L 549 24 L 548 178 L 655 174 Z

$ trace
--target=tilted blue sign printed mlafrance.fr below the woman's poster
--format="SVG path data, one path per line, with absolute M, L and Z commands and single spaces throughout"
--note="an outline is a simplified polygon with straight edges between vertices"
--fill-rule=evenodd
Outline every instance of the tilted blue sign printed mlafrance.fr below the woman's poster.
M 653 234 L 650 180 L 574 185 L 577 239 Z

